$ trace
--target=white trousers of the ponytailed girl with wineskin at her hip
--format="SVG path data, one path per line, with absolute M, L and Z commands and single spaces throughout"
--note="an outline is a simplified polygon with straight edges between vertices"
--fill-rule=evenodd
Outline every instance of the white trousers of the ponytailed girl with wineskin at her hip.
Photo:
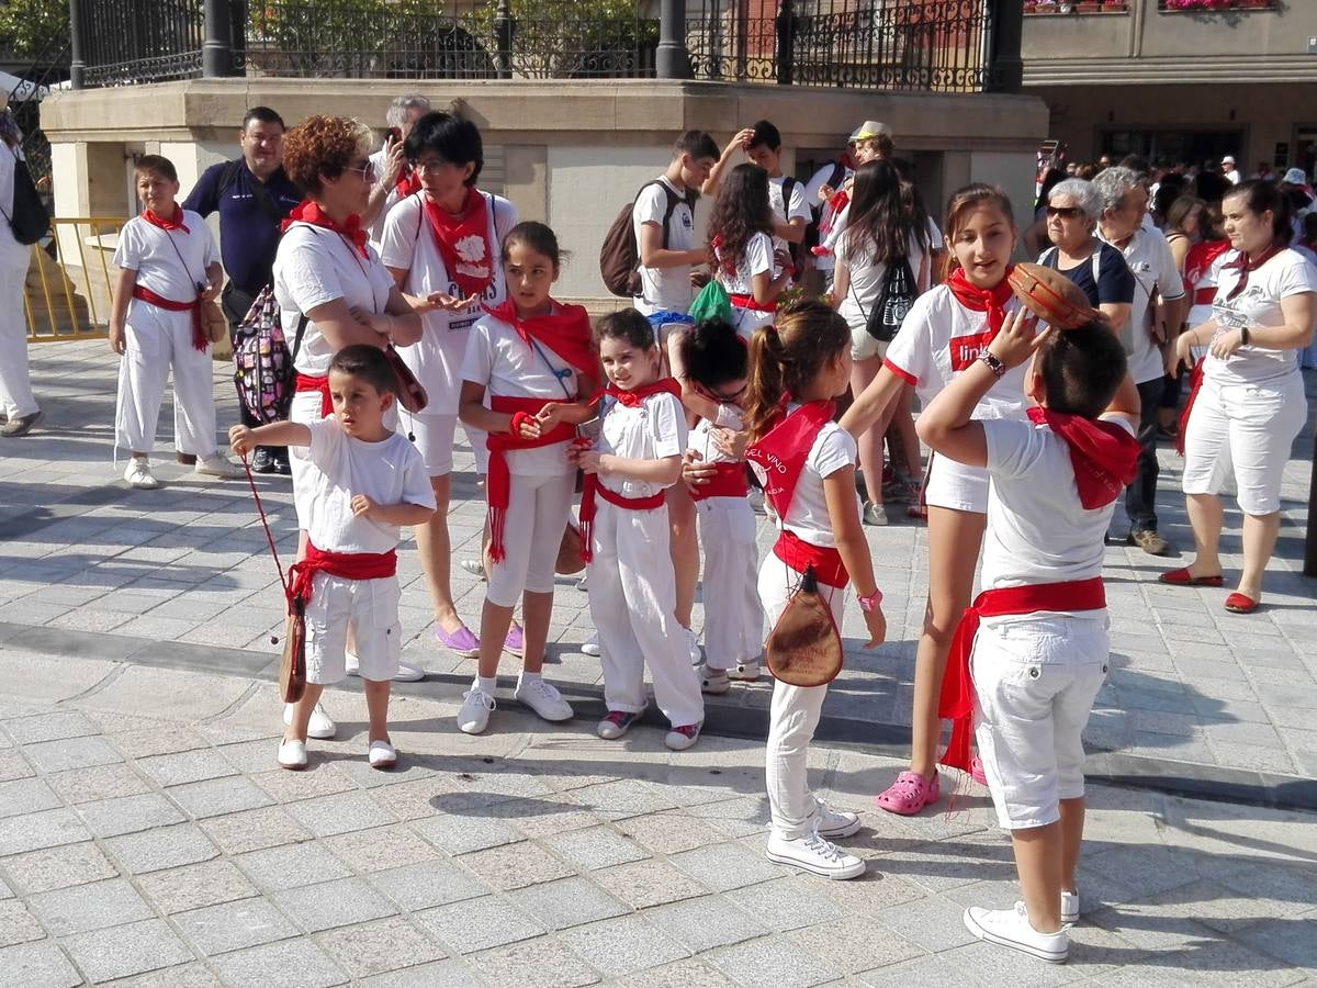
M 769 627 L 777 623 L 799 584 L 799 573 L 772 553 L 765 557 L 759 570 L 759 599 L 764 605 Z M 836 626 L 842 627 L 846 588 L 819 584 L 819 590 L 832 609 Z M 789 686 L 781 681 L 773 684 L 764 773 L 773 833 L 786 840 L 807 837 L 814 829 L 818 804 L 810 792 L 807 769 L 810 740 L 818 727 L 826 697 L 827 686 Z

